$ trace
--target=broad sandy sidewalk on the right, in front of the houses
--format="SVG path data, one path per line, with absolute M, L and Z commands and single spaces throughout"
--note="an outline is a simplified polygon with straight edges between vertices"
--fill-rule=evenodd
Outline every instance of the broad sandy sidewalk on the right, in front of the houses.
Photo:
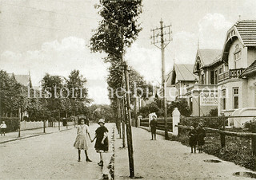
M 150 132 L 136 127 L 132 130 L 135 176 L 142 176 L 142 179 L 243 179 L 233 174 L 252 172 L 212 155 L 190 154 L 190 147 L 166 141 L 162 135 L 157 135 L 157 140 L 151 141 Z M 129 179 L 128 150 L 120 148 L 122 139 L 118 139 L 117 134 L 115 137 L 114 177 L 117 180 Z M 204 162 L 206 159 L 221 162 Z

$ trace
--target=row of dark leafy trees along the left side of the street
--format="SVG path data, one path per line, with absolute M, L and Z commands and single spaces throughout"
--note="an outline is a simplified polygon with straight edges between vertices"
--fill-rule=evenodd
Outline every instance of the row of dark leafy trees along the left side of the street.
M 106 121 L 113 121 L 110 105 L 90 105 L 91 102 L 86 78 L 78 70 L 70 72 L 68 78 L 46 73 L 40 89 L 25 87 L 6 71 L 0 71 L 0 117 L 17 117 L 20 108 L 28 112 L 24 119 L 30 121 L 55 121 L 79 114 L 92 120 L 105 117 Z

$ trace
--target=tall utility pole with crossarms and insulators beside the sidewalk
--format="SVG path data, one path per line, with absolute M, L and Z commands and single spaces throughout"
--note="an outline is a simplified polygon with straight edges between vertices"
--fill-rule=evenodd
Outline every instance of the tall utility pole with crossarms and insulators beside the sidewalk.
M 163 108 L 164 108 L 164 119 L 165 119 L 165 139 L 168 140 L 168 125 L 167 125 L 167 105 L 166 105 L 166 67 L 165 67 L 165 48 L 166 46 L 172 41 L 170 34 L 170 27 L 171 25 L 162 25 L 162 19 L 160 21 L 160 28 L 156 28 L 151 30 L 153 32 L 153 44 L 161 49 L 162 52 L 162 89 L 163 89 Z M 164 31 L 164 30 L 167 30 Z M 159 32 L 160 31 L 160 32 Z M 160 41 L 158 40 L 158 37 L 161 37 Z M 160 44 L 160 46 L 158 45 Z

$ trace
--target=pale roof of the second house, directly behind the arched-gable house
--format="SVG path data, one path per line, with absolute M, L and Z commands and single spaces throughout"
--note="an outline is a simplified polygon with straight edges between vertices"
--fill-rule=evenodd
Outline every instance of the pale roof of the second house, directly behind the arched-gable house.
M 221 49 L 198 49 L 198 55 L 200 57 L 202 66 L 212 64 L 214 61 L 218 61 L 222 54 Z

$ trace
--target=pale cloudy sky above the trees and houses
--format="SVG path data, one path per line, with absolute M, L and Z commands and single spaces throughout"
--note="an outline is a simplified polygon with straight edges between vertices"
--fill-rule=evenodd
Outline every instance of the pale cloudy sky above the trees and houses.
M 91 53 L 90 37 L 101 17 L 89 0 L 0 0 L 0 69 L 28 74 L 38 86 L 47 73 L 68 76 L 74 69 L 86 77 L 95 104 L 110 104 L 107 64 Z M 255 20 L 254 0 L 143 0 L 142 32 L 126 49 L 126 61 L 147 81 L 161 81 L 161 50 L 150 36 L 172 25 L 173 41 L 166 46 L 166 72 L 173 63 L 194 64 L 198 49 L 222 49 L 226 31 L 235 22 Z M 199 42 L 199 43 L 198 43 Z

